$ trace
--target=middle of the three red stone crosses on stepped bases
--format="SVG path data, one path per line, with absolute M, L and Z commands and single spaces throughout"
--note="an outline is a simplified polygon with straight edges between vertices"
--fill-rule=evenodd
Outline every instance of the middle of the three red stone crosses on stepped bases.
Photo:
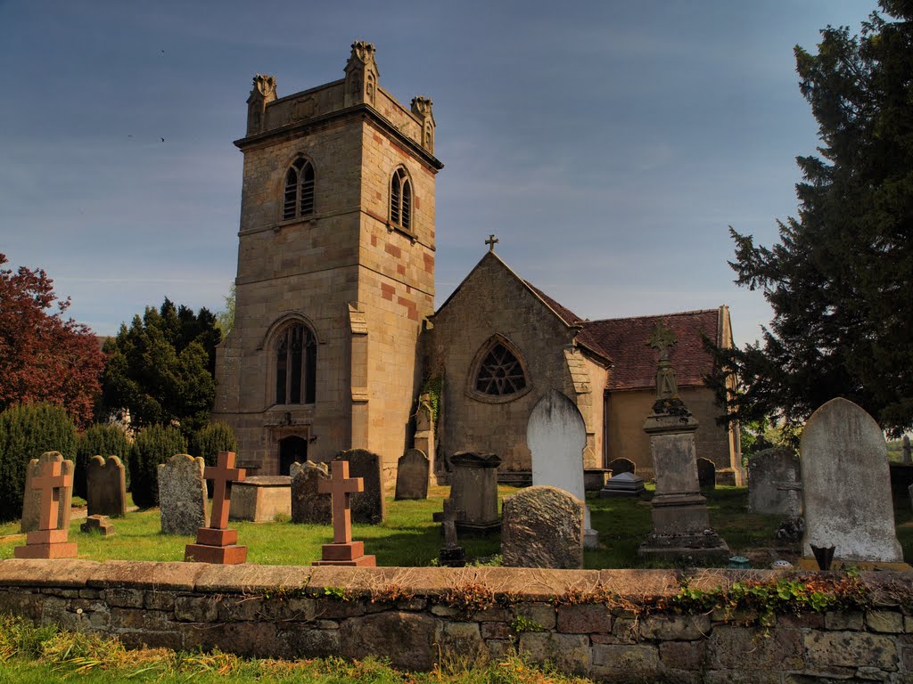
M 219 451 L 215 465 L 203 471 L 206 480 L 213 481 L 213 513 L 210 526 L 196 531 L 196 544 L 187 544 L 185 561 L 236 565 L 247 560 L 247 546 L 238 546 L 237 530 L 228 529 L 228 512 L 231 509 L 231 484 L 243 482 L 245 470 L 235 467 L 234 451 Z

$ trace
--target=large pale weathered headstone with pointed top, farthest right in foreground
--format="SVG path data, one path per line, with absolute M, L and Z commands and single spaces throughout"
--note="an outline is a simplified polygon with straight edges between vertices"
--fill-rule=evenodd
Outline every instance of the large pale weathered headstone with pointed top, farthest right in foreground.
M 894 529 L 885 435 L 865 410 L 831 399 L 805 424 L 803 555 L 834 546 L 841 561 L 902 563 Z

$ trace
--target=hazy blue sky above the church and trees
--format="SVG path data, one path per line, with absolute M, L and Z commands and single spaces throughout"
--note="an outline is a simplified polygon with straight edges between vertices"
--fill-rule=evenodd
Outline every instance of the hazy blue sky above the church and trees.
M 796 212 L 817 140 L 792 47 L 874 8 L 0 0 L 0 252 L 100 335 L 166 295 L 221 308 L 251 78 L 342 78 L 364 39 L 384 88 L 435 103 L 438 304 L 497 233 L 580 316 L 728 304 L 752 341 L 771 313 L 732 284 L 727 226 L 771 244 Z

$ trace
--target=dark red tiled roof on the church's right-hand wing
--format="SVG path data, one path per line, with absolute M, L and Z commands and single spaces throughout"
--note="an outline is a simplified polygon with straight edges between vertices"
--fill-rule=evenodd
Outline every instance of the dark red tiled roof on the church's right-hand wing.
M 661 320 L 678 340 L 669 355 L 678 385 L 702 385 L 704 376 L 713 372 L 713 355 L 704 348 L 703 338 L 716 344 L 723 341 L 725 311 L 721 306 L 659 316 L 584 321 L 579 339 L 602 347 L 614 359 L 606 389 L 652 388 L 656 387 L 659 352 L 647 347 L 646 341 Z

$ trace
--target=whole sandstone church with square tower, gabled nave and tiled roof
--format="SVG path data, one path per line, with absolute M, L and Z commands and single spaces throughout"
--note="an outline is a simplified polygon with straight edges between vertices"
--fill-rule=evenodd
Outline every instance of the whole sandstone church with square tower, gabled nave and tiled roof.
M 502 482 L 529 482 L 527 420 L 557 389 L 582 414 L 587 469 L 649 477 L 642 427 L 657 352 L 646 339 L 662 320 L 678 339 L 680 396 L 700 421 L 698 456 L 715 463 L 718 482 L 740 483 L 738 432 L 717 426 L 702 384 L 713 372 L 703 337 L 731 345 L 725 306 L 584 320 L 515 274 L 492 236 L 435 311 L 444 165 L 432 103 L 416 97 L 407 109 L 379 78 L 374 47 L 361 41 L 345 77 L 317 88 L 278 98 L 275 78 L 254 78 L 247 134 L 235 142 L 244 154 L 235 326 L 216 358 L 214 420 L 236 431 L 238 465 L 288 473 L 294 461 L 362 448 L 391 478 L 414 445 L 419 397 L 434 387 L 438 472 L 456 451 L 494 452 Z

